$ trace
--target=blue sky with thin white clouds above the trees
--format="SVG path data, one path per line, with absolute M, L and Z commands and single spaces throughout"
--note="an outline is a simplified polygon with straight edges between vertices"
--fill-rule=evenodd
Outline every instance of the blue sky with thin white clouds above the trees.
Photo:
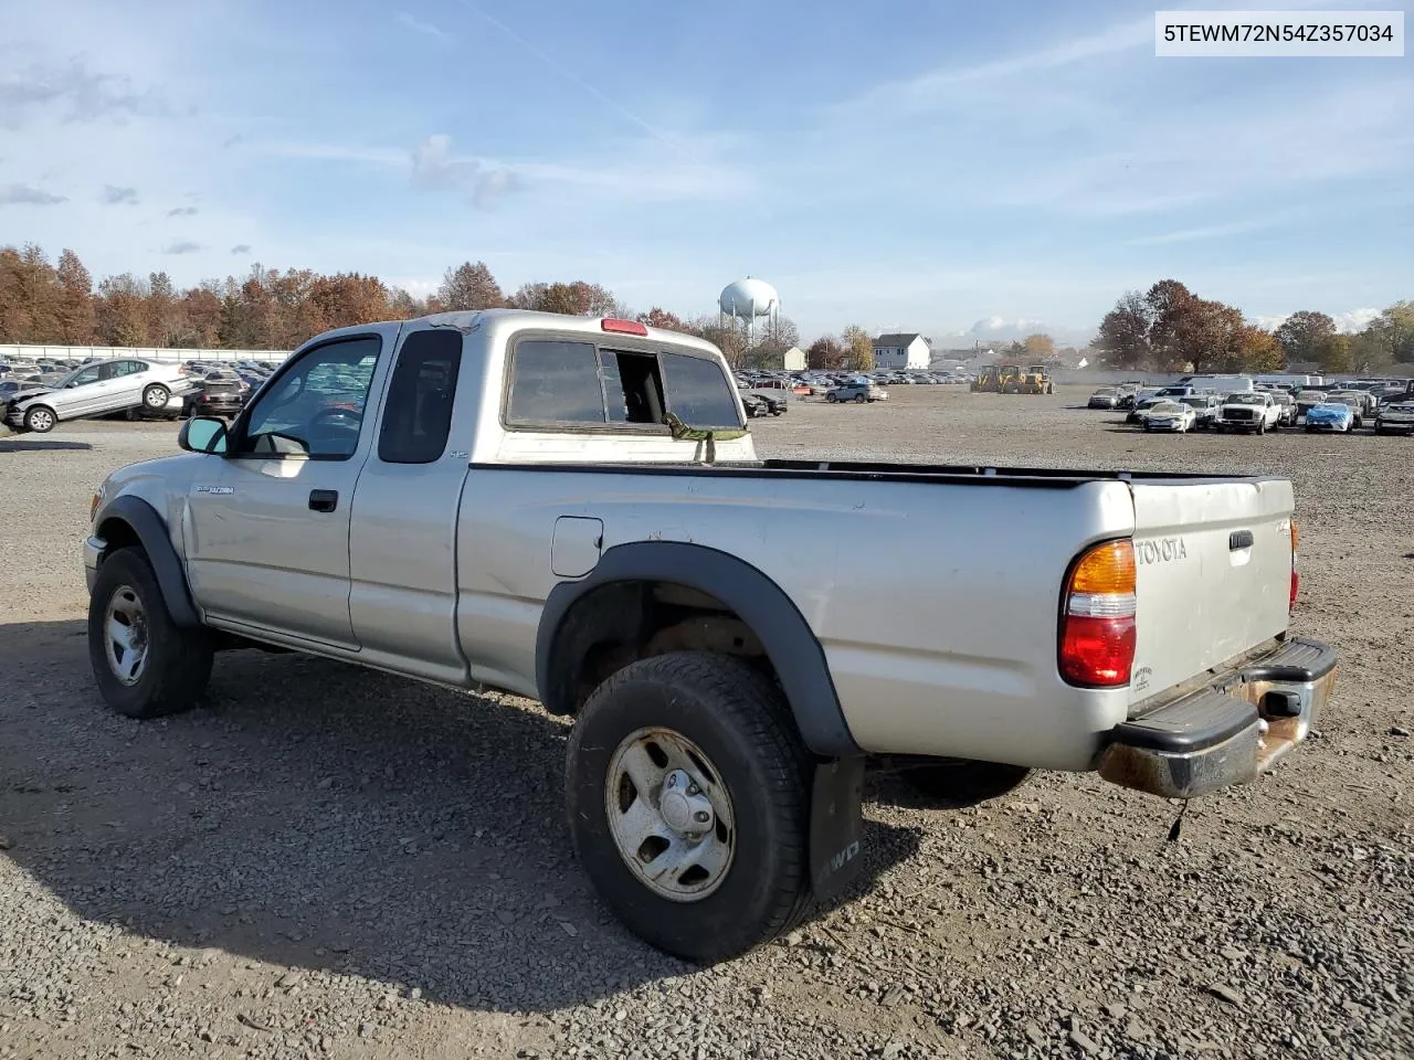
M 680 315 L 756 276 L 807 338 L 945 345 L 1085 342 L 1165 277 L 1267 325 L 1414 297 L 1414 58 L 1159 59 L 1152 4 L 0 0 L 0 245 L 95 276 L 428 294 L 485 260 Z

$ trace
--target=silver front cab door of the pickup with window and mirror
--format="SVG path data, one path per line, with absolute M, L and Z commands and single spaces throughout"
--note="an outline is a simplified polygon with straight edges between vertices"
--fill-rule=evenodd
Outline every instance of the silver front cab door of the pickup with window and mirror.
M 349 514 L 397 324 L 297 352 L 187 497 L 192 595 L 218 625 L 356 649 Z

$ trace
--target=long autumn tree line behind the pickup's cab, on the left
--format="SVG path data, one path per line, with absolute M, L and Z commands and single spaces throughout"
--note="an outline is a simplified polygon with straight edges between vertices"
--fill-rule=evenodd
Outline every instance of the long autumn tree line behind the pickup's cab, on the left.
M 741 366 L 779 365 L 800 341 L 788 318 L 748 343 L 741 328 L 723 326 L 715 315 L 689 319 L 659 307 L 635 312 L 608 288 L 584 280 L 527 283 L 506 294 L 485 261 L 448 269 L 436 294 L 419 298 L 376 276 L 260 264 L 242 278 L 204 280 L 185 290 L 163 271 L 146 278 L 120 273 L 95 284 L 72 250 L 51 263 L 33 243 L 0 247 L 0 343 L 294 349 L 331 328 L 493 308 L 639 319 L 714 342 Z

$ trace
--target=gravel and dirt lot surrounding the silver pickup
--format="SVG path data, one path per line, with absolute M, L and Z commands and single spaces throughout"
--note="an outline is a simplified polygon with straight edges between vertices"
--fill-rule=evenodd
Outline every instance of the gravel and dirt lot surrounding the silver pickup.
M 854 900 L 710 970 L 597 906 L 566 728 L 532 702 L 240 652 L 194 714 L 109 714 L 78 543 L 103 475 L 174 430 L 0 440 L 0 1056 L 1414 1054 L 1414 441 L 1145 437 L 1080 397 L 898 387 L 755 432 L 1291 476 L 1295 625 L 1345 659 L 1318 736 L 1175 844 L 1175 807 L 1090 776 L 973 810 L 877 782 Z

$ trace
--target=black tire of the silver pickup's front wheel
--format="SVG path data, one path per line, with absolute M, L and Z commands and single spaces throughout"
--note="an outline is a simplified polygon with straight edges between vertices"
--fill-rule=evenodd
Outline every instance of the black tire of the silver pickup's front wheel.
M 126 623 L 110 611 L 126 612 Z M 119 670 L 129 664 L 134 646 L 124 647 L 113 640 L 113 622 L 136 629 L 144 642 L 132 680 L 120 677 Z M 173 623 L 157 575 L 141 548 L 119 548 L 98 568 L 89 598 L 88 635 L 89 664 L 98 690 L 109 707 L 127 718 L 188 711 L 206 690 L 211 635 L 205 629 L 181 629 Z

